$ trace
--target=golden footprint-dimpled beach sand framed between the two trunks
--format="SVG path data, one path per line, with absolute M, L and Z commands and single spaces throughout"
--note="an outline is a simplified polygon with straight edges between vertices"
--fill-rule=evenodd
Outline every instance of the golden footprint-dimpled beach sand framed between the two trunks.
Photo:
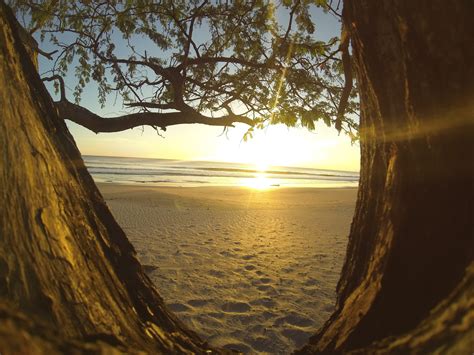
M 357 189 L 99 188 L 168 307 L 210 344 L 288 354 L 333 311 Z

